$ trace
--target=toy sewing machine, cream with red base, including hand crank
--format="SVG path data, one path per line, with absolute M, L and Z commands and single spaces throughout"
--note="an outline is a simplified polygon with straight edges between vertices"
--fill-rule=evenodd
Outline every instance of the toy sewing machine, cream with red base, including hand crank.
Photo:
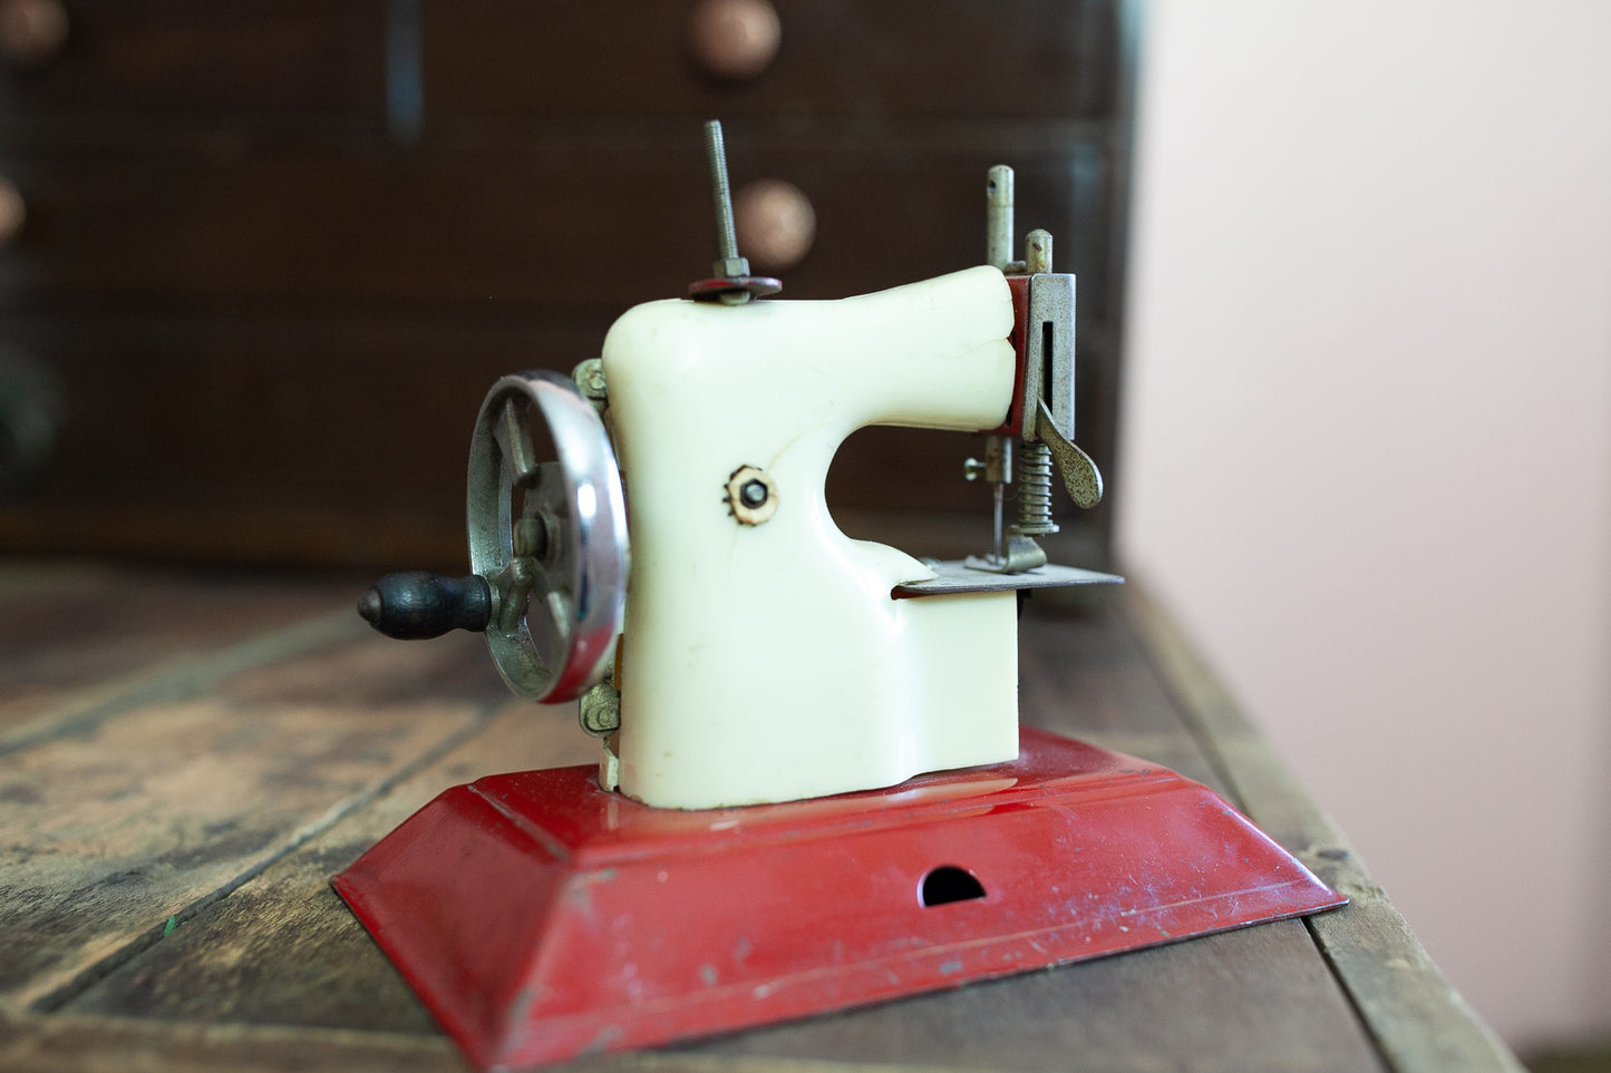
M 1018 591 L 1118 578 L 1036 543 L 1054 459 L 1076 503 L 1102 488 L 1071 443 L 1075 279 L 1046 232 L 1013 261 L 1010 169 L 988 264 L 760 300 L 707 145 L 712 279 L 628 309 L 574 377 L 498 380 L 472 575 L 359 601 L 393 636 L 483 630 L 516 693 L 580 699 L 601 738 L 598 768 L 449 789 L 335 878 L 448 1033 L 528 1065 L 1342 904 L 1197 783 L 1020 731 Z M 988 549 L 838 530 L 828 466 L 872 424 L 988 433 Z

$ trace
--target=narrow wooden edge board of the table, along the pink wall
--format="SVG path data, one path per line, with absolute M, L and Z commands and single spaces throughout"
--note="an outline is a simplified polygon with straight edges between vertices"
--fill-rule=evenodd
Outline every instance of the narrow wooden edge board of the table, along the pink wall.
M 1213 751 L 1232 801 L 1352 899 L 1307 923 L 1389 1067 L 1519 1071 L 1516 1057 L 1448 984 L 1342 831 L 1279 764 L 1181 632 L 1144 591 L 1126 590 L 1124 620 Z

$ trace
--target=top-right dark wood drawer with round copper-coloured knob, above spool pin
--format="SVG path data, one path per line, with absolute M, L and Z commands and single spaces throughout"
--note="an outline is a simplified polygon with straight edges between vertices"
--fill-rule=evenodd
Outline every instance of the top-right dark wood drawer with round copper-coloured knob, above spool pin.
M 743 84 L 686 47 L 691 3 L 424 0 L 427 129 L 578 116 L 994 116 L 1113 111 L 1112 3 L 777 0 L 781 44 Z

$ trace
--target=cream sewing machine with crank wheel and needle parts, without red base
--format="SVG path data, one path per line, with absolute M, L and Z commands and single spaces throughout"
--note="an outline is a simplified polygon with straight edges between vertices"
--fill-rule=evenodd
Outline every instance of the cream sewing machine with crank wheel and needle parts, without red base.
M 366 617 L 398 636 L 485 628 L 517 693 L 582 698 L 604 738 L 601 786 L 657 807 L 1015 757 L 1017 591 L 1118 580 L 1047 566 L 1033 540 L 1057 528 L 1049 445 L 1075 498 L 1100 496 L 1068 443 L 1073 277 L 1050 271 L 1046 232 L 1010 259 L 1012 169 L 996 168 L 992 264 L 838 301 L 752 301 L 778 284 L 731 248 L 720 151 L 712 169 L 715 277 L 628 309 L 574 372 L 580 387 L 499 380 L 472 446 L 475 574 L 388 578 Z M 536 422 L 557 461 L 535 461 Z M 991 461 L 971 462 L 996 488 L 989 551 L 936 569 L 839 532 L 828 466 L 876 424 L 992 433 Z M 1004 533 L 1013 482 L 1025 509 Z

